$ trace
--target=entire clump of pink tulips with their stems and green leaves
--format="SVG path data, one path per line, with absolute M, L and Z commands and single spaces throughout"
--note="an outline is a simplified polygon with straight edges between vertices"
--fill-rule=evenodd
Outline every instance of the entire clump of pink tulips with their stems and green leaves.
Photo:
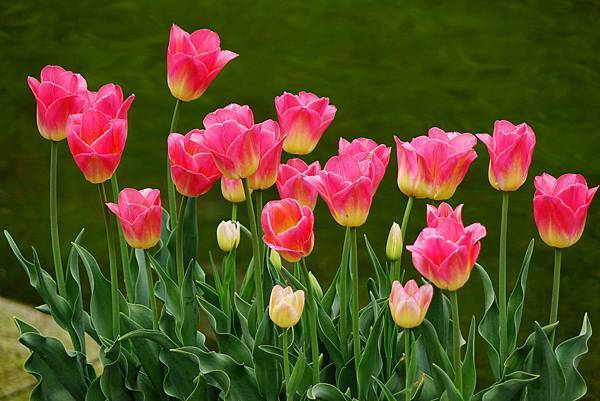
M 32 400 L 576 401 L 585 395 L 577 367 L 588 349 L 590 320 L 584 316 L 573 338 L 556 333 L 561 255 L 583 235 L 597 186 L 578 174 L 533 180 L 530 217 L 553 248 L 554 275 L 548 323 L 522 327 L 534 241 L 520 271 L 511 268 L 508 199 L 529 185 L 536 143 L 529 125 L 498 120 L 493 135 L 477 135 L 489 153 L 490 185 L 502 197 L 495 283 L 478 264 L 491 252 L 488 229 L 463 223 L 463 209 L 472 216 L 477 202 L 466 199 L 464 208 L 439 202 L 460 191 L 477 157 L 476 136 L 431 128 L 407 141 L 396 137 L 398 196 L 406 199 L 394 202 L 406 206 L 403 214 L 389 210 L 390 221 L 375 227 L 368 217 L 372 206 L 381 207 L 374 196 L 386 182 L 389 146 L 341 138 L 323 168 L 323 160 L 281 160 L 283 151 L 315 149 L 337 111 L 326 97 L 284 92 L 275 99 L 273 119 L 263 122 L 255 122 L 250 106 L 231 103 L 206 114 L 202 126 L 177 133 L 180 101 L 201 96 L 236 56 L 221 50 L 213 31 L 171 28 L 167 83 L 177 100 L 170 131 L 157 137 L 131 127 L 129 134 L 130 141 L 167 144 L 164 209 L 157 189 L 119 190 L 133 95 L 123 96 L 117 84 L 90 91 L 81 75 L 58 66 L 44 67 L 39 80 L 29 77 L 37 105 L 32 118 L 51 150 L 54 269 L 35 251 L 27 260 L 5 235 L 44 311 L 69 338 L 63 344 L 16 319 L 19 340 L 32 353 L 25 363 L 37 381 Z M 57 149 L 65 137 L 85 180 L 98 184 L 106 231 L 106 257 L 98 261 L 106 266 L 86 249 L 83 231 L 72 242 L 58 235 L 64 195 L 57 191 Z M 214 203 L 198 206 L 217 181 L 231 214 L 221 215 Z M 263 193 L 273 200 L 263 204 Z M 318 198 L 333 219 L 319 208 L 313 213 Z M 238 219 L 241 202 L 248 215 Z M 413 202 L 433 203 L 425 213 L 415 208 L 418 233 L 407 232 Z M 211 234 L 199 232 L 200 213 L 221 222 Z M 345 230 L 343 243 L 315 234 L 334 222 Z M 366 235 L 358 240 L 358 231 L 367 229 L 379 236 L 377 246 Z M 204 249 L 207 243 L 220 251 Z M 538 246 L 537 253 L 551 252 L 548 247 Z M 245 257 L 249 248 L 251 258 Z M 325 277 L 313 249 L 340 255 Z M 370 264 L 359 263 L 359 255 Z M 541 262 L 536 269 L 550 271 Z M 361 292 L 371 273 L 368 292 Z M 463 336 L 459 292 L 477 285 L 469 283 L 472 275 L 483 283 L 482 317 L 473 317 Z M 507 282 L 516 282 L 511 292 Z M 471 305 L 476 296 L 470 295 Z M 487 364 L 475 364 L 482 359 L 475 355 L 478 341 Z M 92 367 L 91 360 L 102 366 Z M 486 381 L 492 378 L 487 387 L 477 381 L 485 369 Z

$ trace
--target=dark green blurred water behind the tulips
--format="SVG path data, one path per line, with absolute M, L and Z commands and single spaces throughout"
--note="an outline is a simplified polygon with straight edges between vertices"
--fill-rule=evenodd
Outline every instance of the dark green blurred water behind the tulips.
M 203 116 L 228 103 L 249 104 L 256 120 L 275 118 L 273 98 L 284 90 L 328 96 L 337 116 L 306 160 L 324 163 L 340 136 L 368 136 L 393 144 L 431 126 L 490 132 L 495 119 L 526 121 L 538 145 L 525 186 L 511 196 L 509 285 L 516 279 L 529 240 L 536 248 L 529 276 L 523 331 L 546 322 L 550 308 L 552 251 L 539 240 L 531 211 L 532 177 L 580 172 L 600 183 L 600 4 L 597 1 L 21 1 L 0 6 L 0 226 L 23 247 L 34 245 L 51 267 L 48 227 L 49 145 L 37 133 L 35 102 L 27 75 L 45 64 L 82 73 L 90 88 L 107 82 L 135 93 L 129 138 L 119 168 L 122 186 L 165 186 L 166 136 L 174 100 L 166 85 L 165 53 L 171 23 L 186 30 L 208 27 L 231 62 L 198 101 L 183 104 L 180 131 L 201 125 Z M 97 191 L 83 180 L 61 144 L 59 221 L 63 250 L 81 227 L 85 246 L 106 264 Z M 465 203 L 467 223 L 488 227 L 480 262 L 497 276 L 500 194 L 487 181 L 482 144 L 464 183 L 451 200 Z M 406 198 L 395 185 L 395 150 L 371 216 L 360 229 L 383 257 L 392 221 Z M 275 196 L 274 191 L 268 196 Z M 163 191 L 166 201 L 166 191 Z M 564 252 L 559 337 L 579 332 L 587 311 L 600 312 L 600 207 L 588 216 L 581 241 Z M 424 224 L 424 202 L 416 202 L 406 243 Z M 199 201 L 202 255 L 216 248 L 215 228 L 229 215 L 218 186 Z M 242 216 L 245 213 L 242 211 Z M 322 283 L 339 262 L 343 229 L 323 203 L 317 207 L 317 242 L 309 259 Z M 250 244 L 242 244 L 245 255 Z M 332 249 L 334 249 L 332 251 Z M 26 275 L 0 241 L 0 294 L 39 302 Z M 410 264 L 405 253 L 404 261 Z M 202 260 L 204 262 L 205 260 Z M 361 274 L 373 274 L 366 252 Z M 409 267 L 411 275 L 414 270 Z M 363 280 L 365 281 L 365 280 Z M 366 298 L 366 293 L 363 292 Z M 461 292 L 461 313 L 482 312 L 475 273 Z M 582 369 L 588 399 L 600 393 L 598 336 Z M 484 350 L 478 344 L 480 362 Z M 486 381 L 485 372 L 483 382 Z

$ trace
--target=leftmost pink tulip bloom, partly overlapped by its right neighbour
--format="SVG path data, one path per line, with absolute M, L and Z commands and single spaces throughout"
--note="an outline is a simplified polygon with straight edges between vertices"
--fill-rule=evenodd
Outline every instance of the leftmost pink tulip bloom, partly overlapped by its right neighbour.
M 69 115 L 83 110 L 87 84 L 81 75 L 57 65 L 45 66 L 40 81 L 27 77 L 37 103 L 38 130 L 44 138 L 60 141 L 67 136 Z

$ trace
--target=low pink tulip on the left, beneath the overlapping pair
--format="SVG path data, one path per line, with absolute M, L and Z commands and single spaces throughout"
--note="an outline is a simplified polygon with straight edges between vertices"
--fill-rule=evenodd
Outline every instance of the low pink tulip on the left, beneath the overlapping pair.
M 123 236 L 132 248 L 148 249 L 158 243 L 162 226 L 158 189 L 125 188 L 119 193 L 118 204 L 106 206 L 118 217 Z

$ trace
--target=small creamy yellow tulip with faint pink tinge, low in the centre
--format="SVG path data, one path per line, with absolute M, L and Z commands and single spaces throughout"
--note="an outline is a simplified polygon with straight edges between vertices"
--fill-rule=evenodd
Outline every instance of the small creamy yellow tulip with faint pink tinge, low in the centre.
M 269 317 L 277 326 L 289 329 L 295 326 L 304 311 L 304 291 L 283 288 L 279 284 L 271 290 Z

